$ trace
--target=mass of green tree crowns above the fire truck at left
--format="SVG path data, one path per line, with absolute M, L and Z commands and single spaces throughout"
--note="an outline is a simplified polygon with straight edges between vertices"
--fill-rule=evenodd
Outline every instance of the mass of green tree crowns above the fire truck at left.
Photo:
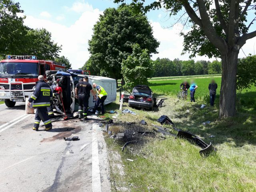
M 52 40 L 46 29 L 31 29 L 24 25 L 20 4 L 13 0 L 0 1 L 0 56 L 36 55 L 38 59 L 53 60 L 61 46 Z

